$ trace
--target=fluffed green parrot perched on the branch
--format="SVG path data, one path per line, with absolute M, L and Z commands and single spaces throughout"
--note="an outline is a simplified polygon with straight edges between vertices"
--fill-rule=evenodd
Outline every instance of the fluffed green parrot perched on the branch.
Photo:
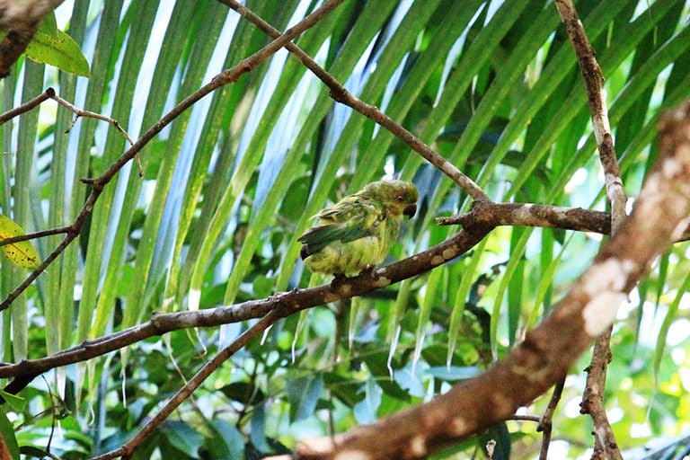
M 309 270 L 357 275 L 385 259 L 400 231 L 403 215 L 417 211 L 417 187 L 406 181 L 376 181 L 319 214 L 317 225 L 299 237 L 300 256 Z

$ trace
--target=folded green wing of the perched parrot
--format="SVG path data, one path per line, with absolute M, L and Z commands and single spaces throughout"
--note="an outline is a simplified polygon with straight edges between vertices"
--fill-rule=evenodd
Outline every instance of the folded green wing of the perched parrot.
M 325 208 L 317 216 L 322 225 L 313 226 L 298 241 L 305 244 L 305 256 L 321 251 L 329 243 L 347 243 L 376 234 L 382 213 L 363 199 L 348 197 L 331 208 Z

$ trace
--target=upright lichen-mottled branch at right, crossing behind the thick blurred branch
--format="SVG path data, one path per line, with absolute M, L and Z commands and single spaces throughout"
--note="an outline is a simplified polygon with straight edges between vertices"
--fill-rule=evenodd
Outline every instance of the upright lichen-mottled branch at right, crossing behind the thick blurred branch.
M 611 230 L 616 234 L 625 218 L 625 189 L 621 172 L 615 156 L 614 137 L 608 122 L 606 93 L 604 92 L 604 75 L 597 63 L 595 50 L 588 40 L 587 33 L 579 21 L 575 5 L 571 0 L 555 0 L 558 13 L 561 14 L 572 48 L 578 58 L 579 68 L 587 87 L 589 111 L 592 116 L 592 128 L 597 137 L 599 160 L 604 168 L 606 180 L 606 197 L 611 203 Z M 587 384 L 582 395 L 581 412 L 589 413 L 594 421 L 595 448 L 594 456 L 599 453 L 606 459 L 623 459 L 615 442 L 615 435 L 606 417 L 604 407 L 604 388 L 606 387 L 606 367 L 611 361 L 611 328 L 603 333 L 594 346 L 592 362 L 588 367 Z

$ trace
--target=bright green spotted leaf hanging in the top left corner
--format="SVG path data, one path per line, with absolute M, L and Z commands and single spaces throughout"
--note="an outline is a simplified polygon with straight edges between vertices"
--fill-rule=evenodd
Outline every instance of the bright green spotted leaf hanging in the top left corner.
M 82 49 L 64 31 L 57 31 L 57 37 L 37 31 L 25 52 L 33 61 L 56 66 L 71 74 L 90 75 L 89 62 Z

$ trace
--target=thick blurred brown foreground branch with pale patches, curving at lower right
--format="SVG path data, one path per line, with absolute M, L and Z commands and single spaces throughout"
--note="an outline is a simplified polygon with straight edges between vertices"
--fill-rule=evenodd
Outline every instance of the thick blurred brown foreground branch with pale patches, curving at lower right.
M 544 323 L 490 370 L 447 394 L 335 438 L 305 439 L 302 459 L 422 458 L 505 420 L 567 373 L 614 321 L 627 293 L 687 225 L 690 214 L 690 103 L 662 118 L 659 162 L 632 216 Z M 385 439 L 385 443 L 381 440 Z

